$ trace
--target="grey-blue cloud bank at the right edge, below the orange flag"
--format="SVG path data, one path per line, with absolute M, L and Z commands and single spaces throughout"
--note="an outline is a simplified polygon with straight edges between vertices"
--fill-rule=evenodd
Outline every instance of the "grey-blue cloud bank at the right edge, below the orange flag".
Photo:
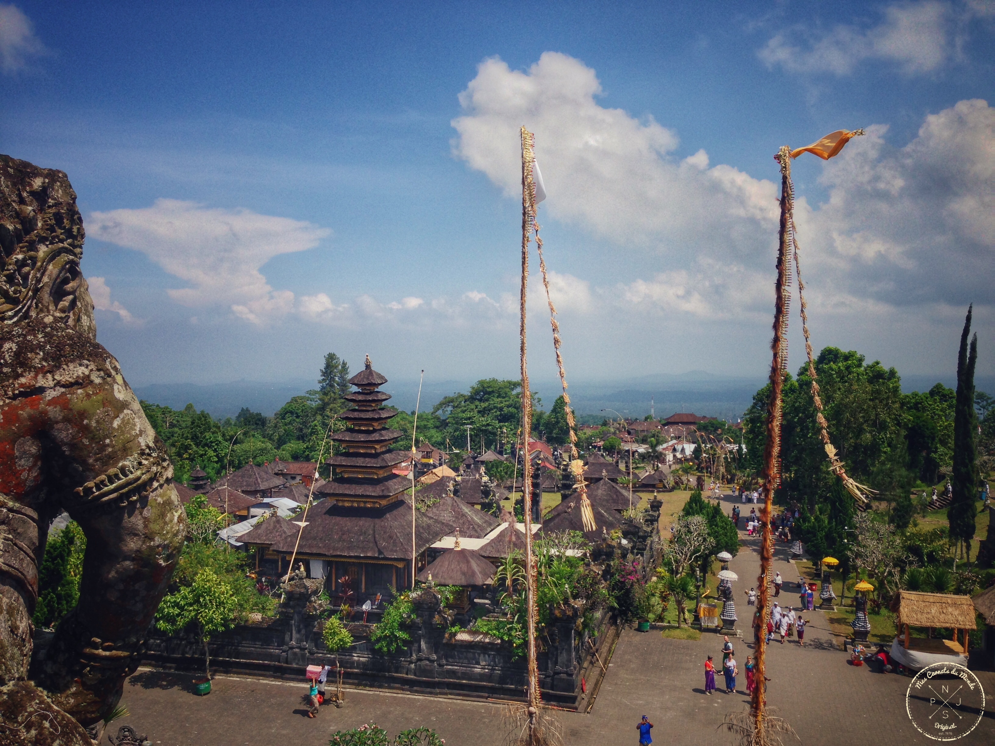
M 848 292 L 898 306 L 995 301 L 995 109 L 962 100 L 895 148 L 870 127 L 826 164 L 830 198 L 800 215 Z

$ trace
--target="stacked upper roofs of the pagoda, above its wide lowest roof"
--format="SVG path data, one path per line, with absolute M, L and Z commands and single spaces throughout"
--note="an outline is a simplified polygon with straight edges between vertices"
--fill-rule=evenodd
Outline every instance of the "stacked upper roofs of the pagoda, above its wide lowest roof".
M 328 460 L 335 476 L 315 492 L 329 504 L 384 507 L 401 499 L 410 486 L 408 479 L 394 473 L 394 468 L 410 455 L 391 449 L 403 434 L 386 427 L 397 410 L 382 407 L 390 394 L 377 389 L 387 379 L 373 370 L 369 356 L 365 369 L 350 378 L 349 383 L 359 389 L 345 396 L 355 406 L 339 415 L 347 425 L 346 430 L 331 436 L 335 443 L 345 447 L 345 453 Z

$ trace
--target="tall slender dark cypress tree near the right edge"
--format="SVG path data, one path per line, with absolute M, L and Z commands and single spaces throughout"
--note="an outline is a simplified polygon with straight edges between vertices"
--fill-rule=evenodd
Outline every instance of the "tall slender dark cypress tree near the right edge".
M 957 399 L 953 415 L 953 468 L 950 484 L 953 499 L 947 511 L 951 538 L 960 539 L 970 557 L 971 539 L 974 538 L 974 518 L 977 515 L 977 415 L 974 412 L 974 366 L 978 359 L 978 335 L 971 339 L 971 311 L 967 308 L 964 330 L 960 334 L 957 355 Z

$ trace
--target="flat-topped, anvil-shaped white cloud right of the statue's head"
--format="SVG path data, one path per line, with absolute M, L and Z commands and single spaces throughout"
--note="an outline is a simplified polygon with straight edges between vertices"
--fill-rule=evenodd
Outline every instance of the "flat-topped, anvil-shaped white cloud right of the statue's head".
M 88 232 L 101 241 L 142 252 L 192 285 L 168 290 L 191 307 L 226 305 L 262 323 L 294 310 L 294 293 L 274 290 L 260 269 L 274 257 L 312 249 L 330 231 L 310 223 L 158 199 L 152 207 L 95 212 Z

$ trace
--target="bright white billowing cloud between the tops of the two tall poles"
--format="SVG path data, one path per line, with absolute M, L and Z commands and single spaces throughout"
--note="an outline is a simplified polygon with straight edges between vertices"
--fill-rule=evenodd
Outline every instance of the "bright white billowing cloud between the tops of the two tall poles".
M 754 240 L 756 228 L 776 226 L 773 183 L 731 166 L 709 168 L 704 151 L 675 158 L 673 130 L 650 116 L 605 108 L 599 93 L 595 72 L 566 55 L 546 52 L 527 72 L 485 60 L 460 94 L 465 113 L 453 120 L 454 150 L 506 194 L 517 194 L 524 123 L 536 137 L 549 194 L 543 206 L 619 243 L 684 251 L 740 235 L 746 225 Z

